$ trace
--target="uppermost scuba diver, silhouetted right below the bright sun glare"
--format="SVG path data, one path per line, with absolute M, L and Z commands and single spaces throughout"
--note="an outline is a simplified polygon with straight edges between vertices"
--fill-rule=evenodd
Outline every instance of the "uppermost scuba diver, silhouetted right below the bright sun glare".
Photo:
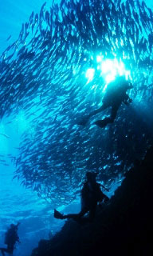
M 89 118 L 103 110 L 106 110 L 108 107 L 111 107 L 110 117 L 97 120 L 94 122 L 94 124 L 96 124 L 96 126 L 100 126 L 100 128 L 103 128 L 107 126 L 108 123 L 114 122 L 117 111 L 119 110 L 122 102 L 124 102 L 126 105 L 129 105 L 132 102 L 131 98 L 129 98 L 127 94 L 127 90 L 132 88 L 133 86 L 131 85 L 131 82 L 128 82 L 124 76 L 118 76 L 115 81 L 108 84 L 102 100 L 102 106 L 100 106 L 99 109 L 92 111 L 90 114 L 85 115 L 85 117 L 78 122 L 78 125 L 85 126 Z

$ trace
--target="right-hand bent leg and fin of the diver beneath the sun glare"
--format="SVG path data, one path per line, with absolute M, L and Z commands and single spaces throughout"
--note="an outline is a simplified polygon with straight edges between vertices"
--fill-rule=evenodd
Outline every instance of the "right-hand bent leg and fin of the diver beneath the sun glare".
M 103 120 L 97 120 L 96 122 L 94 122 L 96 124 L 96 126 L 100 126 L 100 128 L 103 128 L 103 127 L 107 126 L 108 123 L 114 122 L 119 107 L 120 107 L 120 104 L 113 105 L 110 118 L 104 118 Z

